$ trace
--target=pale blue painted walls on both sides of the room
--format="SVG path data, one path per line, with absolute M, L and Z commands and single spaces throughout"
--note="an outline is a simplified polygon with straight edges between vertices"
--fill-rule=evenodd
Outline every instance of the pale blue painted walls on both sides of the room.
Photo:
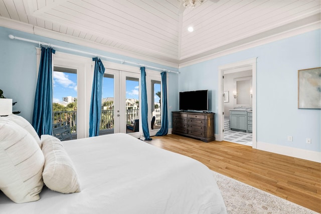
M 14 111 L 22 111 L 20 115 L 29 121 L 32 121 L 37 84 L 35 47 L 38 45 L 11 40 L 10 34 L 177 71 L 0 27 L 0 89 L 6 97 L 18 102 Z M 257 141 L 320 152 L 320 110 L 297 109 L 297 70 L 320 67 L 320 50 L 320 30 L 316 30 L 181 68 L 180 75 L 169 74 L 169 110 L 178 110 L 179 91 L 209 89 L 209 111 L 216 113 L 215 124 L 218 124 L 218 66 L 257 57 Z M 172 128 L 171 113 L 169 122 Z M 293 142 L 287 141 L 288 135 L 293 136 Z M 305 138 L 311 138 L 311 144 L 305 144 Z

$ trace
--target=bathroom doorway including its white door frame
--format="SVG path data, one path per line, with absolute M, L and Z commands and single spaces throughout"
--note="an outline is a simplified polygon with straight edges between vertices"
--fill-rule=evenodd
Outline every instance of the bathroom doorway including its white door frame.
M 256 58 L 219 66 L 218 140 L 256 148 Z

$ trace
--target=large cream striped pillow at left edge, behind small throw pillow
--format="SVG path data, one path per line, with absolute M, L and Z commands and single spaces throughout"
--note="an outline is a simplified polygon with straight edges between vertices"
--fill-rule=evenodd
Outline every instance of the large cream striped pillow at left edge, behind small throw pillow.
M 45 158 L 35 138 L 18 124 L 0 120 L 0 189 L 14 202 L 39 200 Z

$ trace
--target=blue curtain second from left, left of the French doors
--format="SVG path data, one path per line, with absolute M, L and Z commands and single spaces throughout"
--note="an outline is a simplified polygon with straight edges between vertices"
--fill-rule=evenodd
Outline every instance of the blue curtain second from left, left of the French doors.
M 102 80 L 105 72 L 105 67 L 100 59 L 95 57 L 92 58 L 92 61 L 95 61 L 95 69 L 94 79 L 92 81 L 91 102 L 89 112 L 89 137 L 99 135 L 102 99 Z

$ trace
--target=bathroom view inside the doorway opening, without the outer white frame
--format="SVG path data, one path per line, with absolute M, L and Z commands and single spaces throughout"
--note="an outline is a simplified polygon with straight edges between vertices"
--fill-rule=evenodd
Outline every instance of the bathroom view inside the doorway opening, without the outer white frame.
M 252 68 L 223 72 L 224 140 L 252 146 Z

